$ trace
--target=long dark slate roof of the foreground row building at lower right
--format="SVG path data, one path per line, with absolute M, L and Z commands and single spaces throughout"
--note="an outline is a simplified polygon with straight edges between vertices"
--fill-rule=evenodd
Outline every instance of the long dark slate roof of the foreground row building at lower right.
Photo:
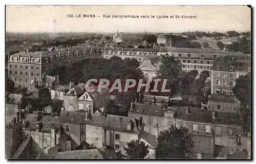
M 168 111 L 167 109 L 164 109 L 162 106 L 158 106 L 158 105 L 135 103 L 133 109 L 129 110 L 129 113 L 163 117 L 164 112 Z M 209 111 L 209 110 L 201 110 L 201 109 L 193 108 L 193 109 L 190 109 L 190 112 L 188 114 L 186 114 L 186 108 L 184 107 L 178 107 L 175 109 L 177 110 L 177 114 L 174 119 L 200 122 L 200 123 L 242 125 L 242 122 L 240 121 L 240 116 L 238 113 L 227 113 L 227 112 L 216 111 L 216 120 L 213 120 L 211 118 L 212 111 Z

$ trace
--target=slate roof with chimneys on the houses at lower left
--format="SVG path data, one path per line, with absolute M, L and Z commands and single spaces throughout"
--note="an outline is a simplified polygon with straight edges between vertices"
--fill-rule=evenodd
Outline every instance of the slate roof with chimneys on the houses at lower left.
M 54 123 L 55 126 L 55 132 L 58 133 L 60 130 L 60 124 L 59 124 L 59 118 L 56 116 L 50 116 L 50 115 L 42 115 L 42 118 L 40 119 L 39 122 L 36 121 L 36 114 L 25 114 L 25 119 L 24 121 L 29 121 L 29 125 L 25 130 L 31 130 L 31 131 L 36 131 L 36 125 L 39 122 L 44 122 L 43 126 L 43 131 L 44 133 L 51 133 L 51 127 L 52 123 Z M 39 129 L 39 131 L 41 131 Z

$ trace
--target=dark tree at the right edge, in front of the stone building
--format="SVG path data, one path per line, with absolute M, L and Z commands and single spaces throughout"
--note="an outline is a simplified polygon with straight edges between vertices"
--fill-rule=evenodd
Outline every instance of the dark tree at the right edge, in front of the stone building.
M 251 105 L 251 75 L 239 76 L 233 87 L 234 96 L 241 101 L 241 105 Z

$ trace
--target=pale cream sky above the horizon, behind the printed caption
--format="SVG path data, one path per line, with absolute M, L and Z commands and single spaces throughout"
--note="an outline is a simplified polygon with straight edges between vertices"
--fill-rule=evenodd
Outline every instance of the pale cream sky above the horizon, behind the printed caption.
M 68 17 L 73 14 L 74 17 Z M 76 17 L 81 14 L 81 17 Z M 95 14 L 94 18 L 83 14 Z M 110 15 L 110 18 L 104 18 Z M 112 18 L 138 15 L 139 18 Z M 148 15 L 150 18 L 141 18 Z M 152 18 L 154 15 L 155 18 Z M 168 18 L 158 18 L 159 16 Z M 170 18 L 170 16 L 180 18 Z M 182 15 L 196 18 L 181 18 Z M 56 20 L 54 24 L 54 20 Z M 251 31 L 247 6 L 6 6 L 7 32 Z

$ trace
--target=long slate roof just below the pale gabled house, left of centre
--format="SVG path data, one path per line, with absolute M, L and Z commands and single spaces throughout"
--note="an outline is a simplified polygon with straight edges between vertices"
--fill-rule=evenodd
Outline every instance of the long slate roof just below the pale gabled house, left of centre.
M 127 130 L 127 123 L 133 119 L 134 121 L 134 129 L 131 131 Z M 119 132 L 127 132 L 127 133 L 137 133 L 138 128 L 135 121 L 135 118 L 127 117 L 127 116 L 119 116 L 119 115 L 98 115 L 92 114 L 92 119 L 86 120 L 86 113 L 80 112 L 66 112 L 65 114 L 60 114 L 60 122 L 61 123 L 69 123 L 69 124 L 79 124 L 79 125 L 93 125 L 99 126 L 105 129 L 119 131 Z

